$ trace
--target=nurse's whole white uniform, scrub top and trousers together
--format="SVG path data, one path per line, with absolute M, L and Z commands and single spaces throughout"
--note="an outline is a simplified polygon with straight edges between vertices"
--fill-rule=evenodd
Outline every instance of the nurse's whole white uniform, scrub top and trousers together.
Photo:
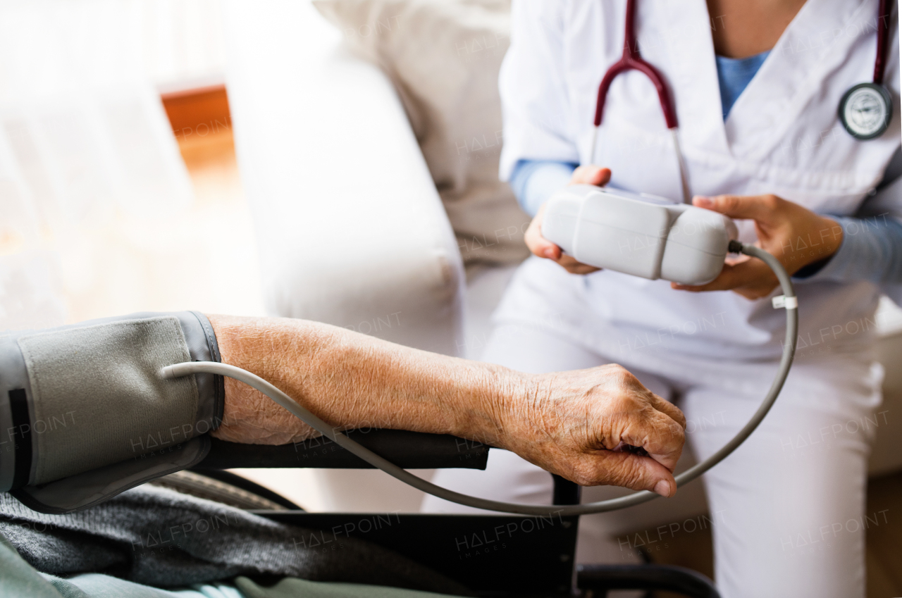
M 520 159 L 589 162 L 596 92 L 621 57 L 625 4 L 515 0 L 501 75 L 502 177 Z M 877 11 L 877 0 L 808 0 L 724 123 L 711 38 L 716 15 L 703 0 L 637 3 L 641 52 L 674 96 L 693 193 L 773 193 L 826 214 L 862 207 L 902 214 L 902 183 L 871 195 L 900 143 L 895 9 L 885 77 L 892 124 L 862 143 L 837 118 L 842 94 L 870 81 Z M 595 163 L 611 168 L 612 186 L 681 197 L 658 95 L 640 73 L 612 83 L 595 152 Z M 743 223 L 741 241 L 754 240 L 753 226 Z M 818 240 L 798 239 L 799 247 L 817 252 Z M 864 512 L 875 428 L 867 422 L 876 421 L 882 379 L 872 353 L 879 289 L 802 281 L 796 291 L 799 349 L 787 385 L 750 440 L 705 476 L 725 598 L 863 596 L 864 529 L 886 515 Z M 785 326 L 770 299 L 692 294 L 612 271 L 571 275 L 538 258 L 520 267 L 495 321 L 486 361 L 537 373 L 615 362 L 654 391 L 676 391 L 699 459 L 758 407 Z M 499 452 L 489 469 L 444 470 L 435 481 L 499 500 L 550 501 L 550 476 L 519 457 Z M 585 489 L 583 500 L 606 492 Z M 424 509 L 465 510 L 431 497 Z M 605 554 L 604 531 L 618 517 L 581 520 L 579 561 Z M 649 531 L 654 540 L 655 528 Z M 656 541 L 667 543 L 667 531 Z M 614 557 L 634 553 L 632 544 L 614 540 Z

